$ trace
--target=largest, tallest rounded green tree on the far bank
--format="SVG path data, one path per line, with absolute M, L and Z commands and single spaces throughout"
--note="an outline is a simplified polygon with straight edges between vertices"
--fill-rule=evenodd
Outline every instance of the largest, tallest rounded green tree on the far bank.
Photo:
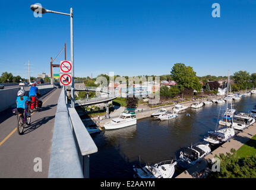
M 179 90 L 184 90 L 187 88 L 201 91 L 202 85 L 196 76 L 196 72 L 193 71 L 191 66 L 186 66 L 185 64 L 181 63 L 175 64 L 172 67 L 170 74 L 173 80 L 178 83 Z

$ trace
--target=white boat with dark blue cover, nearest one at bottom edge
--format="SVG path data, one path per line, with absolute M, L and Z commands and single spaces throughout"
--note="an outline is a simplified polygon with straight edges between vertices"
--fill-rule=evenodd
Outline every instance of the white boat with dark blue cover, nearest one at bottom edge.
M 133 168 L 136 178 L 172 178 L 175 172 L 175 165 L 177 162 L 173 160 L 166 160 L 153 165 L 147 164 L 144 167 L 140 165 Z

